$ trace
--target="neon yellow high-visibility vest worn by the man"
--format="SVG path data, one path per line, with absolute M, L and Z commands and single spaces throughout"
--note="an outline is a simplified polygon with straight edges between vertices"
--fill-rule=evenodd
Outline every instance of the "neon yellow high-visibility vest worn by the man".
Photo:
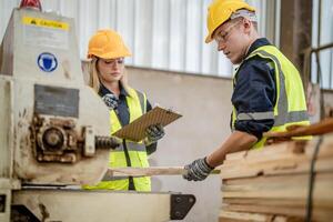
M 258 48 L 250 53 L 244 61 L 255 56 L 269 59 L 271 62 L 269 62 L 268 65 L 274 68 L 276 87 L 276 102 L 274 104 L 274 111 L 238 113 L 236 109 L 233 107 L 231 124 L 232 130 L 234 130 L 234 123 L 236 120 L 274 119 L 274 125 L 271 128 L 270 132 L 286 131 L 286 128 L 292 124 L 309 125 L 310 121 L 306 111 L 303 83 L 296 68 L 274 46 L 264 46 Z M 236 74 L 238 72 L 234 74 L 233 85 L 236 83 Z M 252 148 L 258 149 L 264 147 L 266 139 L 268 138 L 263 137 Z M 310 140 L 311 137 L 299 137 L 293 139 Z

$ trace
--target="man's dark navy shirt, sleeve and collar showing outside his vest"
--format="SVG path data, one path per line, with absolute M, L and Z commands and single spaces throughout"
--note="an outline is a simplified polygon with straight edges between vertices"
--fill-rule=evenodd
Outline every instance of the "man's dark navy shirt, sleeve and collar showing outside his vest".
M 249 49 L 248 56 L 260 47 L 271 44 L 268 39 L 258 39 Z M 235 75 L 232 104 L 238 113 L 272 112 L 276 100 L 275 74 L 271 60 L 255 56 L 244 61 Z M 274 125 L 274 119 L 236 120 L 234 129 L 255 135 Z

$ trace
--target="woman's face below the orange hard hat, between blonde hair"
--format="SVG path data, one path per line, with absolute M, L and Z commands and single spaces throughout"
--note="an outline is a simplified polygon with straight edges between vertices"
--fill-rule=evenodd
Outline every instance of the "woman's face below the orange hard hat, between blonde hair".
M 97 69 L 104 82 L 118 82 L 123 77 L 124 59 L 99 59 Z

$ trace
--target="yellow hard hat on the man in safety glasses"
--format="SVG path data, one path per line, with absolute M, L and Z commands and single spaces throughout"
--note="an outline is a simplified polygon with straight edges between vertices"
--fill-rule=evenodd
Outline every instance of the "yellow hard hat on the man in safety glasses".
M 255 12 L 255 8 L 243 0 L 214 0 L 208 9 L 206 27 L 209 33 L 205 38 L 205 43 L 211 42 L 214 31 L 228 21 L 233 12 L 240 9 Z

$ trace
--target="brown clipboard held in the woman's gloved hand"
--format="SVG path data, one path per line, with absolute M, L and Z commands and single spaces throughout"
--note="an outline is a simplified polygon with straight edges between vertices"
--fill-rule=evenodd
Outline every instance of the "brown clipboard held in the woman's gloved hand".
M 149 125 L 162 124 L 165 127 L 181 117 L 182 115 L 180 113 L 176 113 L 172 110 L 155 107 L 130 124 L 127 124 L 122 129 L 118 130 L 112 135 L 139 142 L 145 138 L 144 131 Z

